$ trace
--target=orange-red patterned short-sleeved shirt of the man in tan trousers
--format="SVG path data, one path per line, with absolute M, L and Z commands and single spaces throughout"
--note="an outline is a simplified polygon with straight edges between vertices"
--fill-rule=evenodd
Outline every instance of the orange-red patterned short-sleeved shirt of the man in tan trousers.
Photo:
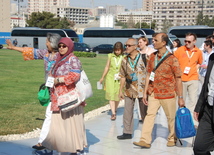
M 150 55 L 147 65 L 148 73 L 151 73 L 155 66 L 156 53 Z M 160 58 L 158 58 L 160 59 Z M 176 77 L 181 77 L 182 72 L 178 59 L 171 55 L 165 59 L 155 70 L 154 81 L 149 82 L 148 94 L 154 92 L 156 99 L 169 99 L 175 97 Z

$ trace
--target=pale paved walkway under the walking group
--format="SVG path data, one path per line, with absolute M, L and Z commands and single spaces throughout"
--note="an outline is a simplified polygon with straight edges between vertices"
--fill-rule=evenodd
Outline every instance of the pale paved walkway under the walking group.
M 84 155 L 193 155 L 192 138 L 182 140 L 183 145 L 175 147 L 166 146 L 168 135 L 166 117 L 162 109 L 158 112 L 153 130 L 153 142 L 150 149 L 140 149 L 134 146 L 133 141 L 138 141 L 142 124 L 138 122 L 137 110 L 134 114 L 134 134 L 130 140 L 117 140 L 122 134 L 123 107 L 117 112 L 117 119 L 110 120 L 110 112 L 103 111 L 101 115 L 85 122 L 88 148 Z M 32 145 L 37 143 L 37 138 L 0 142 L 0 155 L 32 155 Z M 57 155 L 54 152 L 54 155 Z M 67 155 L 59 153 L 59 155 Z M 214 153 L 212 153 L 214 155 Z

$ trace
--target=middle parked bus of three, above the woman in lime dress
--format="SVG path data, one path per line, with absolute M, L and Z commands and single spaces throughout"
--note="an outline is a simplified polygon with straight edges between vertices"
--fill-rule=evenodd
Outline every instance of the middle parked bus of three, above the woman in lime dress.
M 112 44 L 117 41 L 125 43 L 134 36 L 146 36 L 152 42 L 152 29 L 113 29 L 113 28 L 87 28 L 83 33 L 83 42 L 95 47 L 100 44 Z

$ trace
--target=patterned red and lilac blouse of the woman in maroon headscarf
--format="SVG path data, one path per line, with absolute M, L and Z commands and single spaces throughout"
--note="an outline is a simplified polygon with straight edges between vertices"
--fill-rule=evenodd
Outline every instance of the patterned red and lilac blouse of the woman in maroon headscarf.
M 51 89 L 51 111 L 60 111 L 57 104 L 57 96 L 63 95 L 75 88 L 75 83 L 80 78 L 81 62 L 76 56 L 70 56 L 70 59 L 59 66 L 56 70 L 55 78 L 64 77 L 64 83 L 55 85 Z

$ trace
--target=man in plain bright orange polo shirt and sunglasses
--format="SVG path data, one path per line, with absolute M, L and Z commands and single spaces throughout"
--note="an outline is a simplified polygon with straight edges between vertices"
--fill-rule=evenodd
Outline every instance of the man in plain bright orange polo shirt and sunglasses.
M 184 101 L 188 94 L 189 102 L 187 102 L 187 108 L 190 109 L 192 116 L 198 98 L 198 69 L 203 62 L 202 51 L 195 46 L 196 40 L 196 34 L 187 33 L 184 40 L 185 45 L 181 46 L 174 52 L 183 72 L 181 79 L 183 84 Z

